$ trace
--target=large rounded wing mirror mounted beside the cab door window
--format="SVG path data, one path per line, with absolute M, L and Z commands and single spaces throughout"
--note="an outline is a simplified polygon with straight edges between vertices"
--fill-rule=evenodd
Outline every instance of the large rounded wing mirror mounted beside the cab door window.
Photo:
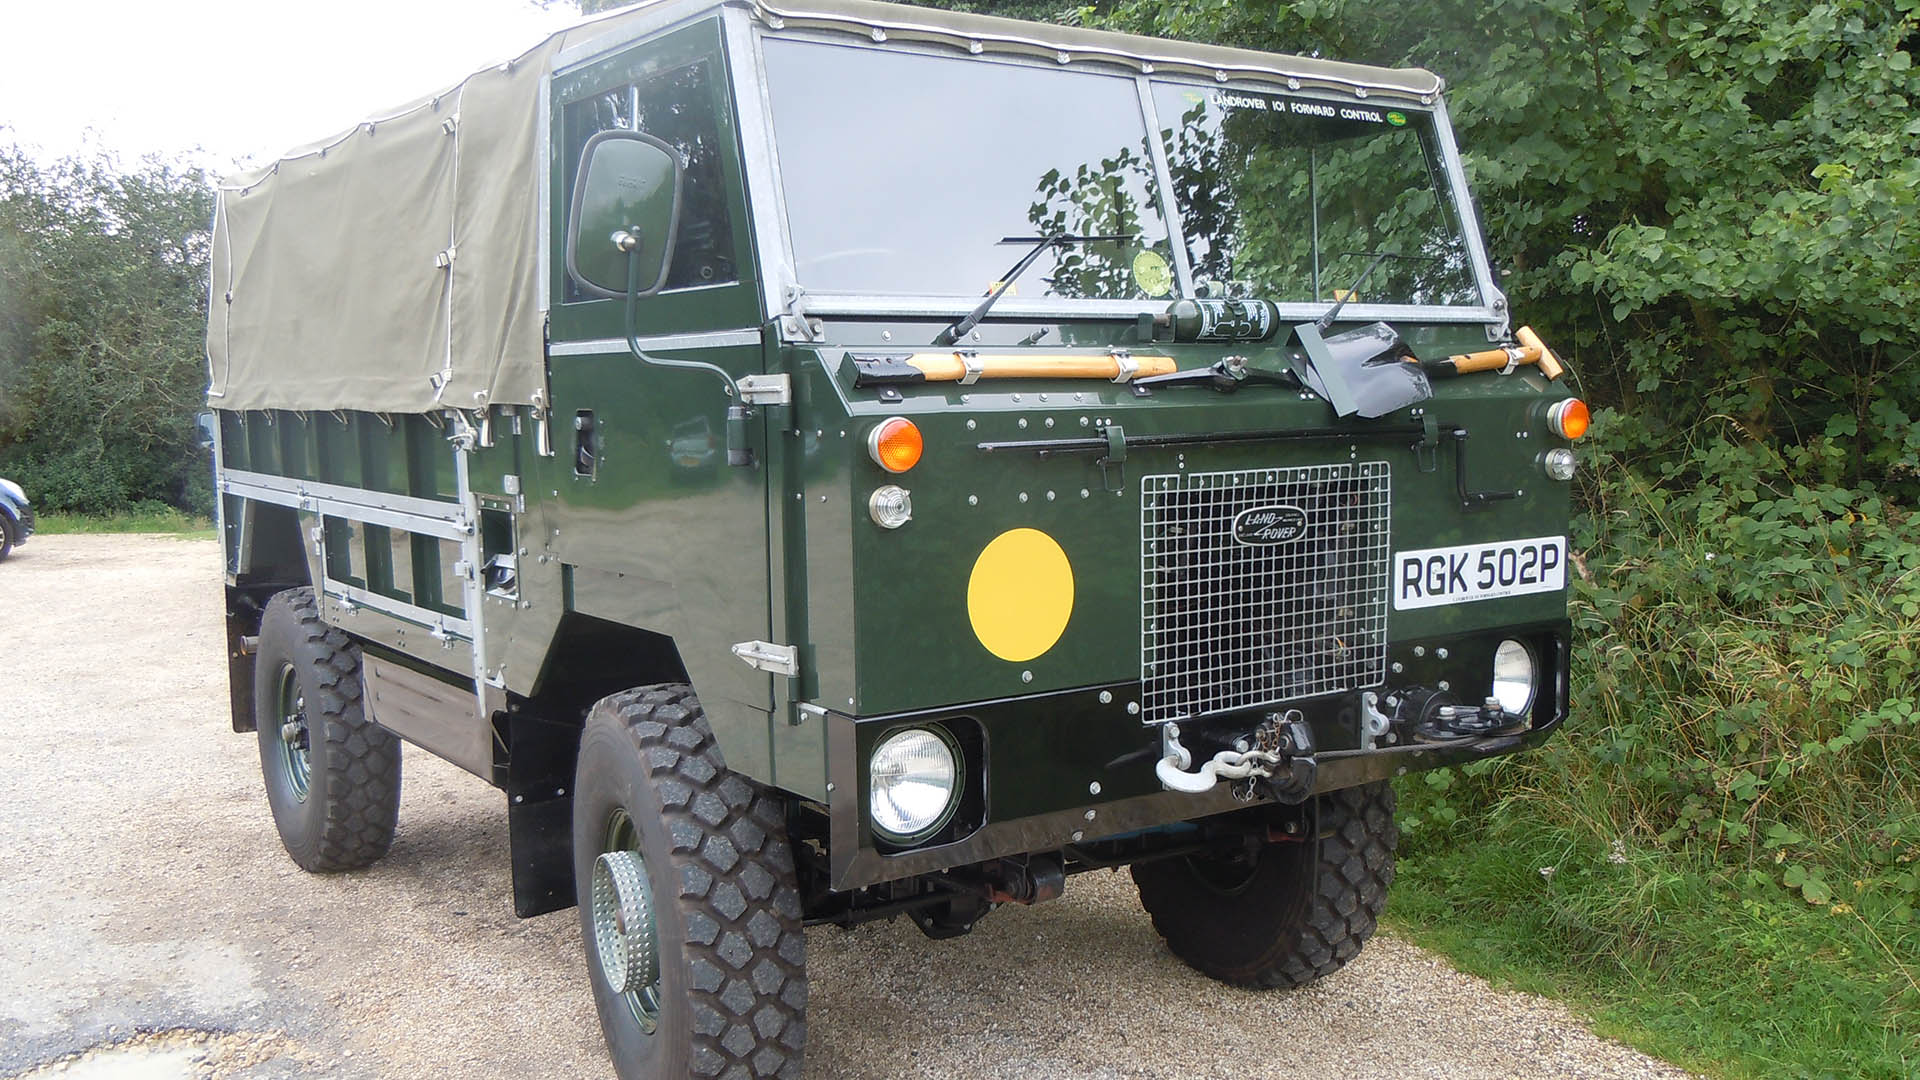
M 593 296 L 653 296 L 680 233 L 680 152 L 641 131 L 603 131 L 580 150 L 566 215 L 566 273 Z

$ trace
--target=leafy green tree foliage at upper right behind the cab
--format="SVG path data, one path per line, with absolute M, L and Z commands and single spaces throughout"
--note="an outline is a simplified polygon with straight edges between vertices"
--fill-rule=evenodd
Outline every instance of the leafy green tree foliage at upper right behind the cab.
M 1665 457 L 1720 415 L 1730 438 L 1832 440 L 1834 480 L 1910 502 L 1916 12 L 1125 0 L 1104 23 L 1442 73 L 1513 307 L 1617 407 L 1617 448 Z

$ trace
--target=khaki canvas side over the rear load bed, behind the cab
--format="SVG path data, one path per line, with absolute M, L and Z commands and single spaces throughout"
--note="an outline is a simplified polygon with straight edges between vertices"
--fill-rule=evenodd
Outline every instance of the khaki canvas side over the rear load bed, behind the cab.
M 557 44 L 221 184 L 211 405 L 530 404 L 540 88 Z

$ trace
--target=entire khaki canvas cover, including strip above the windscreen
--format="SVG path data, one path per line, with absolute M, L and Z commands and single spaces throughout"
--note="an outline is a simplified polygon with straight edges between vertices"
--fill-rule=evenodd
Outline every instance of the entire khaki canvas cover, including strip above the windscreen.
M 566 48 L 737 4 L 770 27 L 1428 98 L 1440 81 L 1313 58 L 1039 27 L 870 0 L 655 0 L 221 183 L 207 404 L 221 409 L 528 405 L 541 390 L 543 86 Z M 588 48 L 586 52 L 595 52 Z

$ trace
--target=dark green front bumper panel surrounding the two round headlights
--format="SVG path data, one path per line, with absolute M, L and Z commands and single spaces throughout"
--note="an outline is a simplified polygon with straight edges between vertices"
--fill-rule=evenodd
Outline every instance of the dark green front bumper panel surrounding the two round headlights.
M 1352 728 L 1357 692 L 1313 701 L 1292 701 L 1317 732 L 1309 796 L 1390 780 L 1407 773 L 1465 765 L 1530 749 L 1553 736 L 1569 715 L 1569 625 L 1538 625 L 1430 638 L 1396 646 L 1405 655 L 1394 678 L 1430 680 L 1446 669 L 1436 653 L 1453 655 L 1461 696 L 1475 700 L 1469 667 L 1503 636 L 1526 636 L 1540 655 L 1540 684 L 1521 732 L 1453 740 L 1444 744 L 1400 744 L 1367 749 L 1359 736 L 1340 744 Z M 1417 650 L 1417 653 L 1415 653 Z M 1423 659 L 1415 659 L 1415 655 Z M 1394 690 L 1390 678 L 1377 690 Z M 854 719 L 829 715 L 829 886 L 851 890 L 889 880 L 912 878 L 954 867 L 970 867 L 1008 855 L 1058 851 L 1071 844 L 1198 821 L 1250 805 L 1235 798 L 1233 784 L 1217 784 L 1202 794 L 1167 792 L 1154 776 L 1160 759 L 1160 728 L 1140 724 L 1129 703 L 1139 701 L 1139 684 L 1092 686 L 1058 694 L 1039 694 L 1002 701 L 979 701 L 948 709 L 925 709 L 891 717 Z M 1273 711 L 1269 707 L 1265 711 Z M 1260 715 L 1219 717 L 1183 730 L 1208 726 L 1233 732 L 1250 728 Z M 868 786 L 864 763 L 887 732 L 916 724 L 943 724 L 964 732 L 966 757 L 979 765 L 970 773 L 977 790 L 968 792 L 956 824 L 931 842 L 887 849 L 868 826 Z M 1263 799 L 1265 796 L 1256 796 Z

